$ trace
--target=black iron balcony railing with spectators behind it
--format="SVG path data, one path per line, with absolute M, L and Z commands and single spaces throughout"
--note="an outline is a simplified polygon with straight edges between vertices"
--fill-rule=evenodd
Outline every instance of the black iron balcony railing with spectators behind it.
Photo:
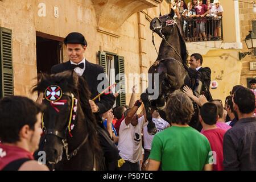
M 177 18 L 185 42 L 223 40 L 222 17 L 206 16 L 204 18 Z

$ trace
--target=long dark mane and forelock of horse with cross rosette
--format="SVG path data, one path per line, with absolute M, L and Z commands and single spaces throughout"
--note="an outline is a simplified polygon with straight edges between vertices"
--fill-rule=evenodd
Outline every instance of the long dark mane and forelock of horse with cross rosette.
M 85 128 L 89 134 L 89 143 L 98 158 L 101 152 L 100 143 L 97 137 L 97 123 L 92 110 L 90 109 L 90 91 L 87 82 L 83 77 L 78 76 L 73 71 L 65 71 L 57 74 L 40 74 L 38 84 L 34 85 L 32 92 L 44 92 L 50 85 L 58 85 L 63 92 L 71 92 L 79 100 L 82 111 L 85 115 Z

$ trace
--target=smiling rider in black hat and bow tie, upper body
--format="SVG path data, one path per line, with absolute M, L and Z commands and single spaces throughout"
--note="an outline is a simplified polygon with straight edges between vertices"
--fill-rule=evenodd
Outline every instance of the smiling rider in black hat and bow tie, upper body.
M 51 73 L 59 73 L 73 69 L 79 76 L 85 78 L 88 83 L 92 98 L 98 95 L 98 84 L 101 80 L 97 80 L 98 75 L 104 73 L 104 68 L 98 64 L 89 63 L 85 60 L 84 52 L 87 47 L 87 42 L 79 32 L 72 32 L 64 39 L 64 44 L 67 46 L 69 61 L 54 65 L 51 68 Z M 104 77 L 104 81 L 107 78 Z M 90 105 L 93 113 L 103 114 L 114 105 L 115 97 L 113 94 L 102 95 L 100 101 L 91 101 Z

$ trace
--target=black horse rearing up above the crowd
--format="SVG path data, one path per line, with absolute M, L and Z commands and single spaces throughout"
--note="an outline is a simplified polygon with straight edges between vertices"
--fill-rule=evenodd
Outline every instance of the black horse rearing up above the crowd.
M 158 74 L 159 80 L 155 80 L 154 76 L 149 81 L 155 85 L 155 90 L 158 90 L 159 96 L 157 99 L 150 100 L 150 93 L 147 92 L 141 95 L 142 101 L 145 105 L 148 120 L 148 133 L 154 134 L 156 132 L 155 124 L 152 122 L 151 109 L 159 110 L 162 118 L 166 119 L 164 107 L 168 96 L 174 90 L 183 88 L 188 85 L 194 88 L 197 93 L 201 93 L 201 87 L 195 84 L 196 77 L 191 72 L 187 63 L 187 48 L 180 33 L 180 28 L 175 23 L 174 11 L 168 15 L 160 16 L 151 20 L 150 29 L 162 38 L 160 44 L 158 58 L 150 67 L 148 73 Z M 194 73 L 195 74 L 195 73 Z M 154 83 L 154 84 L 153 84 Z M 158 83 L 158 84 L 157 84 Z M 194 85 L 196 85 L 194 87 Z M 200 89 L 200 90 L 197 90 Z M 192 118 L 190 125 L 197 130 L 200 130 L 199 123 L 199 109 L 194 103 L 195 115 Z

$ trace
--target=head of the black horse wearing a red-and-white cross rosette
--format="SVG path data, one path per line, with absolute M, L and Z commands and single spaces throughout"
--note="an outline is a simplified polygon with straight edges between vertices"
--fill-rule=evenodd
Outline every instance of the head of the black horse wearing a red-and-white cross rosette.
M 49 163 L 58 163 L 71 135 L 76 119 L 77 87 L 79 77 L 72 71 L 56 75 L 41 74 L 38 85 L 33 89 L 44 93 L 43 104 L 47 109 L 43 113 L 44 148 Z

